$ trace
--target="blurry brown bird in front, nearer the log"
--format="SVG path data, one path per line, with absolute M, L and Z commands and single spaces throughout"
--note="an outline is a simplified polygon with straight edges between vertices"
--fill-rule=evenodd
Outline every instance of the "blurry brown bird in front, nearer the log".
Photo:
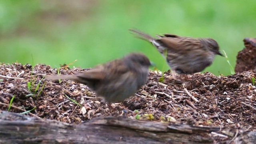
M 146 84 L 150 60 L 140 53 L 98 65 L 76 75 L 47 75 L 46 79 L 69 79 L 86 84 L 105 102 L 120 102 Z

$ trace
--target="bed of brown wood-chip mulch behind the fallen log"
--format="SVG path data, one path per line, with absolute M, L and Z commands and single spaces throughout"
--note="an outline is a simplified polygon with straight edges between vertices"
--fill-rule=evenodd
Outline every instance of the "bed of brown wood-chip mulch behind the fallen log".
M 59 70 L 61 74 L 78 74 L 88 69 L 65 67 Z M 57 69 L 44 64 L 36 65 L 33 70 L 29 64 L 1 64 L 0 75 L 12 78 L 0 76 L 0 110 L 7 111 L 15 95 L 12 102 L 15 107 L 10 108 L 11 112 L 19 113 L 36 107 L 28 115 L 68 123 L 79 124 L 98 116 L 123 116 L 221 126 L 219 133 L 224 136 L 218 137 L 213 133 L 211 136 L 222 140 L 256 128 L 256 87 L 252 84 L 256 70 L 230 76 L 214 76 L 210 72 L 180 75 L 177 80 L 166 72 L 162 82 L 159 82 L 161 72 L 151 71 L 146 85 L 134 96 L 115 104 L 102 102 L 84 84 L 71 80 L 60 83 L 58 80 L 44 80 L 46 74 L 57 74 Z M 30 81 L 34 84 L 31 91 L 27 84 Z M 39 88 L 34 92 L 39 82 Z

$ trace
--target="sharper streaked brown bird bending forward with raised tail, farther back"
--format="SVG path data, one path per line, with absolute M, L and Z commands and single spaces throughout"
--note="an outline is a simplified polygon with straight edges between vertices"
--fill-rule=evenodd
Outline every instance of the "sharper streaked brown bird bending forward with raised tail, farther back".
M 164 36 L 156 35 L 158 37 L 156 39 L 138 30 L 130 31 L 138 38 L 151 42 L 157 48 L 158 52 L 166 58 L 174 78 L 175 72 L 178 74 L 201 72 L 212 64 L 215 55 L 223 56 L 219 52 L 218 43 L 212 38 L 189 38 L 164 34 Z

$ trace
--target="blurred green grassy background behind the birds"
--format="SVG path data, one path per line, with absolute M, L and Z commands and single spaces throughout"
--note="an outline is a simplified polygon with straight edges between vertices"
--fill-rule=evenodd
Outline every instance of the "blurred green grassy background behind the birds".
M 94 67 L 129 52 L 143 52 L 159 70 L 165 60 L 136 28 L 215 39 L 235 65 L 245 37 L 256 37 L 256 0 L 1 0 L 0 62 Z M 223 52 L 222 52 L 223 53 Z M 32 56 L 31 56 L 32 55 Z M 204 71 L 230 74 L 216 56 Z

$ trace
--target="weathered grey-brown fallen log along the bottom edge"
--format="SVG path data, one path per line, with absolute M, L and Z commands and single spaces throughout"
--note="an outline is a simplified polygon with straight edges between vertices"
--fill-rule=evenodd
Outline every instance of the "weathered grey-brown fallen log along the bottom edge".
M 218 127 L 169 124 L 122 117 L 94 118 L 82 124 L 0 112 L 0 143 L 162 144 L 212 143 Z

